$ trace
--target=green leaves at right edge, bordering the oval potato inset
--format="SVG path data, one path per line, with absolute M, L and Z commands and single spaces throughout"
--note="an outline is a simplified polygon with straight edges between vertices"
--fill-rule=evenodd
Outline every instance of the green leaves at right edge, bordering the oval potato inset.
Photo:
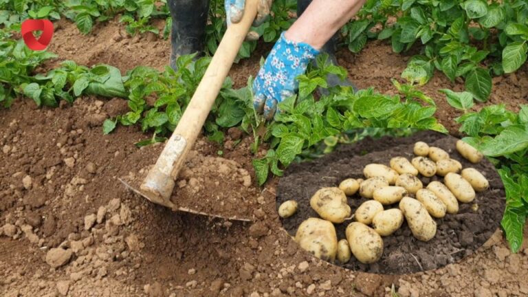
M 522 243 L 522 230 L 528 215 L 528 105 L 519 113 L 503 104 L 465 113 L 456 122 L 467 134 L 463 140 L 490 157 L 506 189 L 506 210 L 502 226 L 513 252 Z

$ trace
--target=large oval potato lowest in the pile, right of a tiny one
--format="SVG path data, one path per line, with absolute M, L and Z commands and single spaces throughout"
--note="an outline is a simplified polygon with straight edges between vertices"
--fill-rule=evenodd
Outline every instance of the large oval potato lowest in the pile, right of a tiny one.
M 345 231 L 350 250 L 361 263 L 375 263 L 383 254 L 383 239 L 364 223 L 353 222 Z

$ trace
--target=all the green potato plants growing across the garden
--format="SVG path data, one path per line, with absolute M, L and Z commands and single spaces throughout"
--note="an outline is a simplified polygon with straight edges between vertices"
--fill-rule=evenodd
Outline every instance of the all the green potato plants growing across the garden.
M 222 5 L 212 1 L 208 26 L 208 49 L 214 52 L 225 30 Z M 276 1 L 275 19 L 268 21 L 261 33 L 265 41 L 274 41 L 278 32 L 292 23 L 288 11 L 292 1 Z M 44 61 L 54 58 L 50 52 L 32 52 L 23 41 L 12 37 L 25 18 L 58 19 L 62 16 L 76 21 L 81 32 L 91 30 L 94 21 L 104 21 L 122 14 L 127 32 L 155 32 L 148 25 L 151 17 L 168 18 L 165 5 L 152 0 L 141 1 L 3 1 L 0 4 L 0 104 L 9 107 L 17 96 L 32 98 L 39 106 L 56 107 L 60 100 L 73 102 L 79 96 L 93 94 L 121 97 L 129 100 L 128 113 L 104 122 L 104 133 L 117 124 L 142 127 L 153 136 L 138 143 L 164 141 L 175 129 L 197 87 L 210 58 L 182 56 L 179 70 L 166 67 L 159 72 L 150 67 L 136 67 L 122 76 L 110 65 L 85 67 L 65 61 L 61 67 L 47 73 L 34 70 Z M 391 18 L 396 16 L 397 18 Z M 252 151 L 259 184 L 270 173 L 281 176 L 283 168 L 294 161 L 330 151 L 338 142 L 351 142 L 347 131 L 358 127 L 417 128 L 446 132 L 434 118 L 434 100 L 419 91 L 434 69 L 450 79 L 465 78 L 467 91 L 442 90 L 452 107 L 464 114 L 461 124 L 464 140 L 487 157 L 499 169 L 507 189 L 507 208 L 503 228 L 511 249 L 517 251 L 522 241 L 522 228 L 528 213 L 528 106 L 518 112 L 507 111 L 503 104 L 471 112 L 474 99 L 486 100 L 491 92 L 491 75 L 513 72 L 526 60 L 528 40 L 528 6 L 524 1 L 367 1 L 360 19 L 343 30 L 344 42 L 358 52 L 367 39 L 391 39 L 395 52 L 408 50 L 415 43 L 423 52 L 410 59 L 402 74 L 409 83 L 394 80 L 399 95 L 380 94 L 373 88 L 354 92 L 346 87 L 328 88 L 327 74 L 346 76 L 345 69 L 318 57 L 319 67 L 310 67 L 298 78 L 298 96 L 281 103 L 284 112 L 274 121 L 265 122 L 252 107 L 251 78 L 248 87 L 233 89 L 225 81 L 204 129 L 212 141 L 223 142 L 225 129 L 238 126 L 254 138 Z M 135 23 L 137 22 L 137 23 Z M 137 26 L 136 26 L 137 25 Z M 379 28 L 382 25 L 382 28 Z M 168 36 L 170 18 L 164 36 Z M 157 31 L 156 31 L 157 32 Z M 245 43 L 241 56 L 250 56 L 256 43 Z M 328 94 L 316 95 L 318 88 Z M 322 143 L 322 144 L 321 144 Z M 265 144 L 265 155 L 259 146 Z

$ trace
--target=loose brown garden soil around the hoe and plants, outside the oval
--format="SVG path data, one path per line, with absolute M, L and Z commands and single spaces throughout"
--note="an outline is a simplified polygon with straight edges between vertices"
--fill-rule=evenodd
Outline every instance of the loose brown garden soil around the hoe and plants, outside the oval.
M 162 69 L 168 61 L 168 41 L 120 39 L 116 34 L 124 28 L 115 21 L 97 25 L 89 36 L 79 34 L 72 23 L 59 24 L 51 50 L 60 58 L 47 67 L 73 59 L 86 65 L 109 63 L 125 72 L 137 65 Z M 385 91 L 388 77 L 403 69 L 389 49 L 371 43 L 357 56 L 341 52 L 340 60 L 347 61 L 360 87 Z M 236 85 L 245 85 L 258 61 L 254 56 L 233 67 Z M 384 73 L 377 75 L 381 70 L 373 71 L 375 63 L 390 65 L 392 71 L 380 68 Z M 496 94 L 505 95 L 492 102 L 504 100 L 515 108 L 521 101 L 511 98 L 525 96 L 521 87 L 528 79 L 525 72 L 517 77 L 516 83 L 511 76 L 496 83 Z M 443 98 L 431 93 L 449 85 L 435 87 L 433 82 L 426 91 L 430 88 L 441 106 Z M 147 151 L 159 149 L 133 145 L 150 135 L 137 127 L 101 133 L 102 120 L 124 111 L 126 102 L 80 98 L 73 107 L 62 107 L 37 109 L 21 99 L 0 111 L 0 296 L 390 296 L 391 285 L 401 296 L 528 294 L 526 238 L 519 254 L 507 250 L 498 232 L 459 263 L 384 276 L 343 270 L 300 250 L 276 215 L 276 181 L 264 189 L 248 187 L 261 193 L 250 208 L 254 223 L 155 206 L 118 181 L 139 172 L 138 164 L 151 157 Z M 441 112 L 441 122 L 448 125 L 451 112 Z M 253 177 L 247 151 L 221 149 L 221 157 Z M 218 150 L 199 140 L 197 164 L 217 157 Z M 192 174 L 204 181 L 211 177 L 203 170 Z M 51 248 L 58 249 L 49 252 Z

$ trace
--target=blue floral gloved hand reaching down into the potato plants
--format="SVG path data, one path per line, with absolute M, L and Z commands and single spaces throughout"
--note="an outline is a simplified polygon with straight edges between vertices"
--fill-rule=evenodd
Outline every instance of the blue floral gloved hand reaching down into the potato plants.
M 317 54 L 311 45 L 289 41 L 281 34 L 253 82 L 255 110 L 264 113 L 267 120 L 273 118 L 277 103 L 295 94 L 297 76 L 305 73 Z

